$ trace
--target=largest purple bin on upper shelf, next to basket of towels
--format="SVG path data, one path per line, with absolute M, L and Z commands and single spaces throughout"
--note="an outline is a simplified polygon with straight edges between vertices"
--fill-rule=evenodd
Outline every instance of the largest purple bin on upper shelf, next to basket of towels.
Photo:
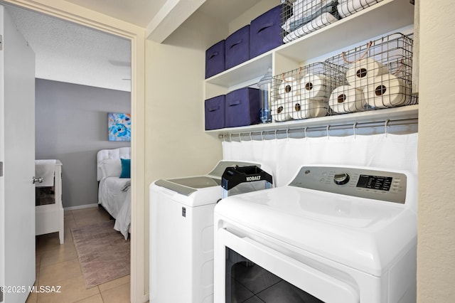
M 282 14 L 291 9 L 280 4 L 250 23 L 250 58 L 283 44 Z

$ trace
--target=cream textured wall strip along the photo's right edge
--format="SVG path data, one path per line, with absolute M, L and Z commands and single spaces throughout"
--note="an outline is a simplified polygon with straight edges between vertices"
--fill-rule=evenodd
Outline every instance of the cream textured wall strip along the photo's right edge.
M 455 302 L 455 6 L 420 2 L 418 302 Z

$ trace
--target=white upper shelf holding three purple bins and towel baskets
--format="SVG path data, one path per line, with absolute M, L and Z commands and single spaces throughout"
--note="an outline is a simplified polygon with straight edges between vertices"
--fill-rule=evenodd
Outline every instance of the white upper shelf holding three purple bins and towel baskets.
M 397 28 L 410 26 L 412 23 L 414 23 L 414 6 L 409 0 L 383 0 L 368 9 L 363 9 L 318 31 L 214 75 L 206 79 L 205 83 L 235 87 L 251 79 L 262 77 L 267 72 L 267 68 L 272 67 L 274 53 L 299 63 Z M 276 74 L 274 71 L 274 75 Z

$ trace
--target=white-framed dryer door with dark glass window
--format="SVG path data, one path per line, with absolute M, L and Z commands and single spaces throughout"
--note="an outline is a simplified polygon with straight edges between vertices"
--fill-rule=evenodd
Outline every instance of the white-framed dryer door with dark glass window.
M 345 282 L 225 228 L 215 237 L 215 302 L 358 303 Z

